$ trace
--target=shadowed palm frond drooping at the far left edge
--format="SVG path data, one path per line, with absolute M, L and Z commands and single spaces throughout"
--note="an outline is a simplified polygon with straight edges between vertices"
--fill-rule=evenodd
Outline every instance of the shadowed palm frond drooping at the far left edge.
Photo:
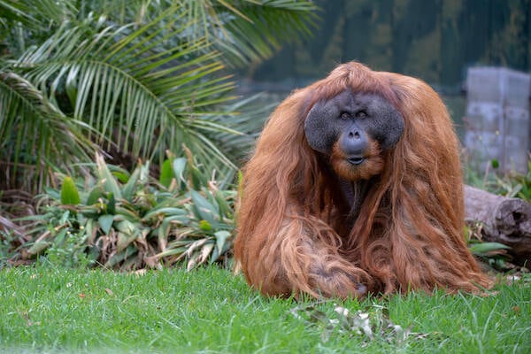
M 89 158 L 96 148 L 81 135 L 82 126 L 65 117 L 31 82 L 17 73 L 0 72 L 3 187 L 11 187 L 22 174 L 27 190 L 39 189 L 56 166 Z

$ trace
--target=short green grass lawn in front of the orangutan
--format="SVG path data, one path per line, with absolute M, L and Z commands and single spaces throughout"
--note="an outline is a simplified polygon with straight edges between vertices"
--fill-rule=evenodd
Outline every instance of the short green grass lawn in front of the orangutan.
M 311 301 L 269 299 L 216 267 L 142 276 L 45 266 L 0 270 L 0 352 L 449 352 L 531 350 L 531 286 L 493 296 L 411 294 L 315 304 L 324 319 L 297 319 Z M 327 326 L 335 303 L 389 319 L 414 334 L 372 341 Z M 298 306 L 298 307 L 297 307 Z M 312 312 L 301 312 L 303 315 Z M 303 316 L 304 317 L 304 316 Z

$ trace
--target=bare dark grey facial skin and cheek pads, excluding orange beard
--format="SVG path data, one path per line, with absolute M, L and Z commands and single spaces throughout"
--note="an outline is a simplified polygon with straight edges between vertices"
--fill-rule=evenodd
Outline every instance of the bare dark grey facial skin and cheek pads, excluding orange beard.
M 362 165 L 370 140 L 378 142 L 382 151 L 396 145 L 404 133 L 404 119 L 381 96 L 345 90 L 313 105 L 304 133 L 313 150 L 330 155 L 338 142 L 350 164 Z

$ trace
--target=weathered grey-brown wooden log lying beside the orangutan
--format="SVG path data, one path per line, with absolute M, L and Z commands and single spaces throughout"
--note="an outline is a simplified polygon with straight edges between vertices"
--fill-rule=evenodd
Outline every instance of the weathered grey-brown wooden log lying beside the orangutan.
M 504 243 L 518 265 L 531 265 L 531 204 L 465 186 L 467 222 L 481 222 L 487 242 Z

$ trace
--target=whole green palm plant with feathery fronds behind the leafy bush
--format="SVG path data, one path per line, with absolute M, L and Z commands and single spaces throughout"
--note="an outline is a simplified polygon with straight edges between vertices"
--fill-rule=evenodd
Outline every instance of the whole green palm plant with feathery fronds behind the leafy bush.
M 38 3 L 38 4 L 37 4 Z M 310 1 L 0 0 L 0 189 L 41 190 L 96 151 L 193 151 L 222 175 L 242 150 L 227 63 L 307 33 Z M 247 142 L 248 140 L 243 139 Z

